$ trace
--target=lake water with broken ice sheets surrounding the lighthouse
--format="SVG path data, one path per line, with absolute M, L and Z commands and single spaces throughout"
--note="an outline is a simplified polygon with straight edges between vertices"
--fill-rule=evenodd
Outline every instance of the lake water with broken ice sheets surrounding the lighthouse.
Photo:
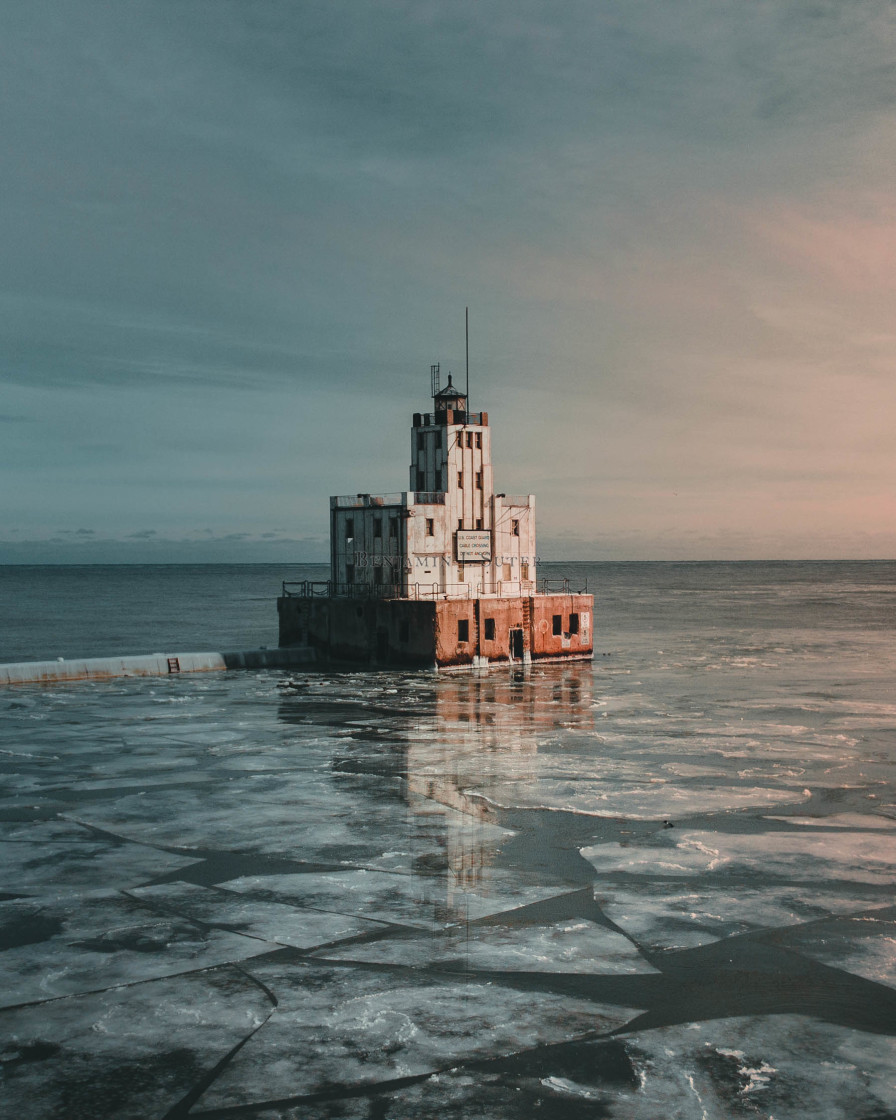
M 0 568 L 0 660 L 324 575 Z M 0 694 L 6 1114 L 896 1117 L 896 563 L 541 575 L 594 664 Z

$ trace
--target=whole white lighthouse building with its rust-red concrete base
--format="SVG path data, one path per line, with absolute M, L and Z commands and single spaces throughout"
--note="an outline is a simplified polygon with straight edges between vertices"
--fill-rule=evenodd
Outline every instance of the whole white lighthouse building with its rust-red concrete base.
M 488 413 L 430 379 L 409 489 L 330 498 L 330 578 L 283 585 L 280 645 L 437 669 L 591 657 L 592 596 L 539 580 L 535 498 L 495 493 Z

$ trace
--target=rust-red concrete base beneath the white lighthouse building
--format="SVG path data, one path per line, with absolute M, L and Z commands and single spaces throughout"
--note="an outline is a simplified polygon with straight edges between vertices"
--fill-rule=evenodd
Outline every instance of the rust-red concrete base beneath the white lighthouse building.
M 452 669 L 592 656 L 594 597 L 349 599 L 283 596 L 280 645 L 323 660 Z

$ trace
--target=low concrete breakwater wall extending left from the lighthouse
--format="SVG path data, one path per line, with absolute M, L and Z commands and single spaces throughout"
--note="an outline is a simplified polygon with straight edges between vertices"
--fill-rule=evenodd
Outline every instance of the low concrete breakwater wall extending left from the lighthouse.
M 102 681 L 114 676 L 169 676 L 227 669 L 287 669 L 314 662 L 315 652 L 302 646 L 284 650 L 244 650 L 235 653 L 147 653 L 124 657 L 59 657 L 57 661 L 19 661 L 0 664 L 0 685 L 55 681 Z

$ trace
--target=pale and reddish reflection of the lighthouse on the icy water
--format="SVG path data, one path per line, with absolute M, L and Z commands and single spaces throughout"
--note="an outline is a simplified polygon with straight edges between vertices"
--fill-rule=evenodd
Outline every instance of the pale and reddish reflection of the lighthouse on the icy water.
M 588 665 L 438 680 L 435 721 L 409 729 L 405 796 L 414 816 L 441 819 L 449 920 L 487 894 L 513 808 L 539 804 L 543 753 L 558 728 L 591 726 L 591 700 Z

